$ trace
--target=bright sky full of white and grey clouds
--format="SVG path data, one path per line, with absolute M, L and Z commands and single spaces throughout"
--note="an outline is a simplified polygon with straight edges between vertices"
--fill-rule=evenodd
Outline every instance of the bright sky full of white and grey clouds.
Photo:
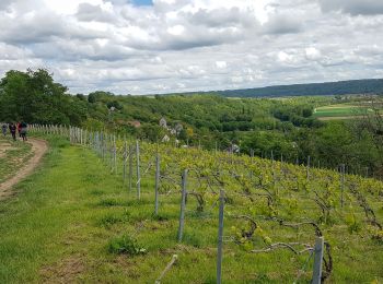
M 72 94 L 383 78 L 381 0 L 0 0 L 0 78 Z

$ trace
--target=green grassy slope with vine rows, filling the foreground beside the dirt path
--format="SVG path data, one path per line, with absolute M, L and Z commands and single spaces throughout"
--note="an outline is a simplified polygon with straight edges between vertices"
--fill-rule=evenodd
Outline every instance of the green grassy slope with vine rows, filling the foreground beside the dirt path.
M 1 283 L 153 283 L 173 255 L 178 260 L 163 282 L 213 283 L 220 189 L 227 197 L 223 282 L 309 282 L 313 258 L 305 248 L 317 235 L 329 245 L 330 264 L 324 265 L 329 282 L 383 280 L 383 185 L 376 180 L 347 175 L 339 184 L 330 170 L 311 168 L 307 177 L 306 168 L 286 163 L 140 143 L 138 199 L 136 174 L 131 189 L 124 182 L 123 141 L 116 141 L 114 159 L 109 137 L 102 142 L 91 135 L 88 146 L 44 138 L 50 151 L 43 166 L 16 187 L 18 198 L 0 203 Z M 183 168 L 188 198 L 177 240 Z

